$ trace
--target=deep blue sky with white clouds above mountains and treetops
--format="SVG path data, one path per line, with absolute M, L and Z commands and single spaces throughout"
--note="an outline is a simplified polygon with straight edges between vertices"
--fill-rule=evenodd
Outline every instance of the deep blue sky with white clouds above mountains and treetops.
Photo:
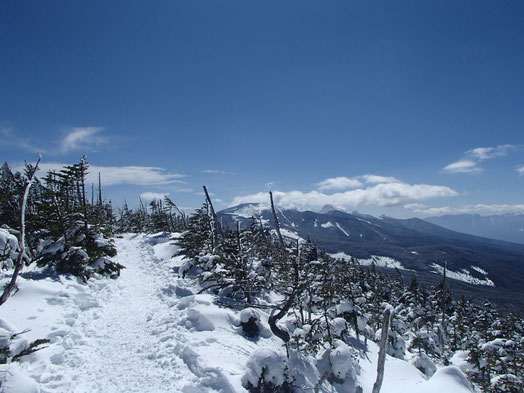
M 0 159 L 105 194 L 524 212 L 524 3 L 0 3 Z

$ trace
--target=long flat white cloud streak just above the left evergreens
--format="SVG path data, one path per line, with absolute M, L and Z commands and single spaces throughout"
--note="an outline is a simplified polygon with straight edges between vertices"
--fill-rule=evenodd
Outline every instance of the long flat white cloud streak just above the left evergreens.
M 38 176 L 44 177 L 48 171 L 60 170 L 69 164 L 59 162 L 40 163 Z M 23 170 L 23 165 L 15 165 L 15 170 Z M 91 165 L 88 169 L 86 183 L 98 183 L 98 173 L 102 178 L 102 186 L 113 186 L 118 184 L 135 184 L 141 186 L 184 183 L 179 180 L 185 175 L 168 172 L 164 168 L 148 166 L 97 166 Z

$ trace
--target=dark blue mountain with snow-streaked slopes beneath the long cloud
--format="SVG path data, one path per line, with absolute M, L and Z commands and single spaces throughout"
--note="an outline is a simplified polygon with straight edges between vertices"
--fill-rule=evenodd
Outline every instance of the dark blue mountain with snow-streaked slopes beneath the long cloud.
M 218 213 L 225 227 L 246 227 L 255 217 L 274 228 L 264 204 L 242 204 Z M 448 277 L 457 294 L 488 298 L 508 310 L 524 310 L 524 245 L 459 233 L 430 222 L 377 218 L 346 213 L 326 206 L 320 213 L 277 209 L 282 234 L 311 239 L 320 248 L 361 264 L 397 268 L 409 278 L 434 284 L 447 263 Z

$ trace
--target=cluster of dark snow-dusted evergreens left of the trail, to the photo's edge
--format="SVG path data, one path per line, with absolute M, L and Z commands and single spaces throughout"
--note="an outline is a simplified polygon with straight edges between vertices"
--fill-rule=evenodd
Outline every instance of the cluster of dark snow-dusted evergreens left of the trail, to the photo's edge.
M 114 216 L 110 203 L 86 198 L 88 164 L 79 163 L 49 172 L 36 181 L 26 206 L 28 254 L 40 266 L 71 273 L 87 280 L 93 273 L 117 276 L 123 267 L 109 258 L 116 255 L 111 237 Z M 27 170 L 31 170 L 28 166 Z M 25 177 L 0 170 L 0 217 L 2 224 L 18 228 Z M 94 187 L 93 187 L 94 188 Z

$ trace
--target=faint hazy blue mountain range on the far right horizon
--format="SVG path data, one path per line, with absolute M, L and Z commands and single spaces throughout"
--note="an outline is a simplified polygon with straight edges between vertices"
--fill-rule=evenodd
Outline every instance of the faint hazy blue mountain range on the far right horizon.
M 457 232 L 524 244 L 524 214 L 457 214 L 424 220 Z

